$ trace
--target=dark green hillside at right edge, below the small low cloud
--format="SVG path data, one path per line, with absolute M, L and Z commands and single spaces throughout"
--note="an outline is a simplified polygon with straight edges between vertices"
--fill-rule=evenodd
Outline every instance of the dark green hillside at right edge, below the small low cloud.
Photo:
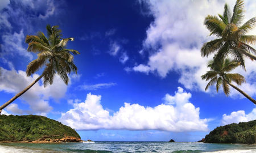
M 256 120 L 220 126 L 205 136 L 208 143 L 256 143 Z

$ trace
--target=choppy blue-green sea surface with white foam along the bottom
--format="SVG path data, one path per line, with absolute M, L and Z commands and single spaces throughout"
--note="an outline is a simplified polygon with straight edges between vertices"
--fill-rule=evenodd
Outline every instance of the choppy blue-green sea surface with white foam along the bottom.
M 256 152 L 256 145 L 199 142 L 0 143 L 0 152 Z

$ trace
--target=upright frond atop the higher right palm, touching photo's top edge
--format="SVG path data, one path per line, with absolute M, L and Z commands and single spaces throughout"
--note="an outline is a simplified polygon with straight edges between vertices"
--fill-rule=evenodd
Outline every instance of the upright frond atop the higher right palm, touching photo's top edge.
M 230 23 L 234 23 L 236 25 L 240 25 L 242 23 L 242 19 L 244 17 L 243 4 L 244 2 L 242 0 L 237 0 L 236 5 L 234 6 L 233 9 L 233 15 L 230 20 Z

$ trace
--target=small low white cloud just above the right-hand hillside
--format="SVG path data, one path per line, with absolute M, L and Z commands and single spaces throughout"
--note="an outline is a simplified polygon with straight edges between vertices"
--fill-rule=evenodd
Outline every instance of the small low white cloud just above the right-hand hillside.
M 256 108 L 254 108 L 249 114 L 245 114 L 245 111 L 232 112 L 230 115 L 223 114 L 222 125 L 248 122 L 251 120 L 256 120 Z

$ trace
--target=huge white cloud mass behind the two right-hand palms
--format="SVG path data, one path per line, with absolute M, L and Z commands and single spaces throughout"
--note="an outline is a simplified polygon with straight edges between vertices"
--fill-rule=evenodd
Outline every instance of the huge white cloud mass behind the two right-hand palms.
M 179 83 L 190 90 L 201 90 L 207 84 L 201 80 L 207 69 L 207 62 L 213 57 L 202 58 L 200 49 L 204 42 L 214 39 L 203 22 L 208 14 L 217 15 L 224 11 L 225 1 L 139 1 L 147 6 L 148 14 L 154 21 L 146 30 L 143 52 L 148 51 L 148 61 L 144 64 L 128 67 L 128 71 L 153 73 L 164 78 L 170 71 L 180 74 Z M 227 1 L 232 8 L 235 1 Z M 144 5 L 146 4 L 146 5 Z M 255 1 L 245 2 L 246 20 L 256 15 Z M 249 35 L 256 35 L 254 28 Z M 153 50 L 153 51 L 152 51 Z M 139 53 L 142 53 L 140 50 Z M 247 71 L 239 70 L 245 75 L 247 83 L 242 85 L 250 96 L 256 95 L 256 86 L 251 76 L 255 76 L 256 63 L 246 58 Z M 238 71 L 238 70 L 236 70 Z M 254 81 L 255 82 L 255 81 Z M 232 97 L 240 95 L 232 90 Z M 242 97 L 242 96 L 241 96 Z

